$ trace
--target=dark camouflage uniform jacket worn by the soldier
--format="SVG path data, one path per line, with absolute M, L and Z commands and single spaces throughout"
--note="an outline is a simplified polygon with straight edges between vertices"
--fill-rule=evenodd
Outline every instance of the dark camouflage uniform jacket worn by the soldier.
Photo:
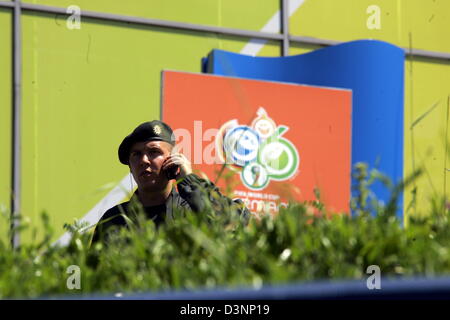
M 225 197 L 212 182 L 202 179 L 195 174 L 187 175 L 178 183 L 177 187 L 178 192 L 173 188 L 164 204 L 143 207 L 146 217 L 152 219 L 156 226 L 163 223 L 166 218 L 173 219 L 173 213 L 176 209 L 185 209 L 197 213 L 202 212 L 207 208 L 208 200 L 210 201 L 211 208 L 216 213 L 220 214 L 220 211 L 226 210 L 229 207 L 242 215 L 245 223 L 250 218 L 250 212 L 244 206 L 242 200 L 231 200 Z M 126 219 L 123 215 L 129 217 L 133 209 L 137 208 L 136 204 L 139 201 L 137 200 L 137 193 L 138 191 L 133 194 L 130 201 L 114 206 L 103 214 L 94 231 L 92 243 L 105 240 L 106 238 L 104 237 L 112 227 L 127 226 Z

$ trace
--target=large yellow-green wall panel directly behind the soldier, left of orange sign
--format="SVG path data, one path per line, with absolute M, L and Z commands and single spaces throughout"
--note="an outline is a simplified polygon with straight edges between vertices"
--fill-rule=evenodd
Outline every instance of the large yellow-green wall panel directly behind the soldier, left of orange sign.
M 248 41 L 92 19 L 69 30 L 64 21 L 23 16 L 22 207 L 35 226 L 46 210 L 55 239 L 127 174 L 117 147 L 159 117 L 161 71 L 199 72 L 213 48 L 239 52 Z

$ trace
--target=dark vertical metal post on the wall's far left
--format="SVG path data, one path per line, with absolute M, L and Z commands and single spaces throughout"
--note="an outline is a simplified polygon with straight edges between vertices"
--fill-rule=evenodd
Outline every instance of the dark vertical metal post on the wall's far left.
M 12 111 L 12 198 L 11 228 L 13 229 L 11 244 L 19 245 L 20 235 L 16 227 L 19 225 L 21 201 L 21 152 L 20 129 L 22 109 L 22 39 L 21 39 L 21 6 L 20 0 L 14 2 L 13 14 L 13 111 Z

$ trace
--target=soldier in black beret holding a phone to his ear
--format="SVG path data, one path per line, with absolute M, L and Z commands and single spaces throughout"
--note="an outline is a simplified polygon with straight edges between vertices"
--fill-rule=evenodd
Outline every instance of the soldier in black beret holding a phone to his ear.
M 105 241 L 108 231 L 127 226 L 123 217 L 131 216 L 137 207 L 158 226 L 173 219 L 174 210 L 200 213 L 208 206 L 215 211 L 235 210 L 247 222 L 250 212 L 242 200 L 223 196 L 210 181 L 192 173 L 183 154 L 174 153 L 175 137 L 164 122 L 144 122 L 125 137 L 119 146 L 119 160 L 128 165 L 137 183 L 130 201 L 116 205 L 104 213 L 94 232 L 93 243 Z M 177 183 L 175 188 L 174 181 Z M 178 189 L 178 191 L 177 191 Z M 136 207 L 137 206 L 137 207 Z

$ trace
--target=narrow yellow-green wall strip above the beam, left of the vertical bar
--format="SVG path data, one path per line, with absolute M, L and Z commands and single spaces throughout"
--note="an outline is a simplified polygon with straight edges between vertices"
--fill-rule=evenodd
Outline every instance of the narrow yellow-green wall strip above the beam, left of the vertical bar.
M 279 10 L 278 0 L 27 0 L 34 4 L 172 20 L 210 26 L 260 30 Z

